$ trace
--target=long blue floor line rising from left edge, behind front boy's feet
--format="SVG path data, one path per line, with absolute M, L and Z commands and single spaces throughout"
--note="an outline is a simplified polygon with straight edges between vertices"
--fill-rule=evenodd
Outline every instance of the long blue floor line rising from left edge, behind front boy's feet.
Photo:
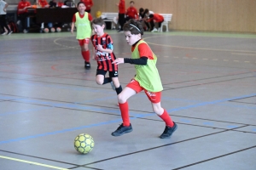
M 229 101 L 229 100 L 232 100 L 232 99 L 243 99 L 243 98 L 247 98 L 247 97 L 252 97 L 254 95 L 256 95 L 256 94 L 244 95 L 244 96 L 240 96 L 240 97 L 236 97 L 236 98 L 230 98 L 230 99 L 219 99 L 219 100 L 216 100 L 216 101 L 203 102 L 203 103 L 197 104 L 197 105 L 189 105 L 189 106 L 185 106 L 185 107 L 179 107 L 177 109 L 172 109 L 169 112 L 172 112 L 172 111 L 182 111 L 182 110 L 185 110 L 185 109 L 195 108 L 195 107 L 198 107 L 198 106 L 217 104 L 217 103 Z M 141 115 L 141 117 L 143 117 L 143 116 L 153 116 L 153 115 L 155 115 L 155 114 Z M 131 119 L 136 119 L 136 118 L 137 117 L 131 117 Z M 7 144 L 7 143 L 11 143 L 11 142 L 15 142 L 15 141 L 20 141 L 20 140 L 25 140 L 25 139 L 34 139 L 34 138 L 48 136 L 48 135 L 57 134 L 57 133 L 66 133 L 66 132 L 70 132 L 70 131 L 74 131 L 74 130 L 79 130 L 79 129 L 83 129 L 83 128 L 97 127 L 97 126 L 102 126 L 102 125 L 106 125 L 106 124 L 111 124 L 113 122 L 121 122 L 121 121 L 122 121 L 121 119 L 115 119 L 113 121 L 99 122 L 99 123 L 96 123 L 96 124 L 86 125 L 86 126 L 82 126 L 82 127 L 73 127 L 73 128 L 68 128 L 68 129 L 63 129 L 63 130 L 51 132 L 51 133 L 41 133 L 41 134 L 37 134 L 37 135 L 33 135 L 33 136 L 27 136 L 27 137 L 19 138 L 19 139 L 3 140 L 3 141 L 0 141 L 0 144 Z M 234 125 L 232 127 L 236 127 L 236 126 Z M 230 128 L 232 128 L 232 127 L 230 127 Z

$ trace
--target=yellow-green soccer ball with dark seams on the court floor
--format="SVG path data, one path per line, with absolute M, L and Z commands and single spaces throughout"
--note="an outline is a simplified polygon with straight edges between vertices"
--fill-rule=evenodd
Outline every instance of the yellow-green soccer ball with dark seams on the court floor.
M 82 154 L 89 153 L 94 147 L 93 138 L 90 134 L 81 133 L 74 139 L 74 148 Z

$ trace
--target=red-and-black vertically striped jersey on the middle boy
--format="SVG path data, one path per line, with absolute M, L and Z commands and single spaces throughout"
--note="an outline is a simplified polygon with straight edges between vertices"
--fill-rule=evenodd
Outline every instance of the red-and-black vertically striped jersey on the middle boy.
M 101 44 L 102 48 L 113 50 L 112 38 L 108 34 L 104 33 L 102 37 L 97 37 L 97 35 L 93 35 L 90 37 L 90 40 L 96 52 L 96 59 L 98 64 L 97 69 L 104 71 L 118 71 L 118 65 L 112 64 L 114 59 L 116 59 L 113 52 L 109 54 L 96 49 L 96 46 L 98 44 Z

